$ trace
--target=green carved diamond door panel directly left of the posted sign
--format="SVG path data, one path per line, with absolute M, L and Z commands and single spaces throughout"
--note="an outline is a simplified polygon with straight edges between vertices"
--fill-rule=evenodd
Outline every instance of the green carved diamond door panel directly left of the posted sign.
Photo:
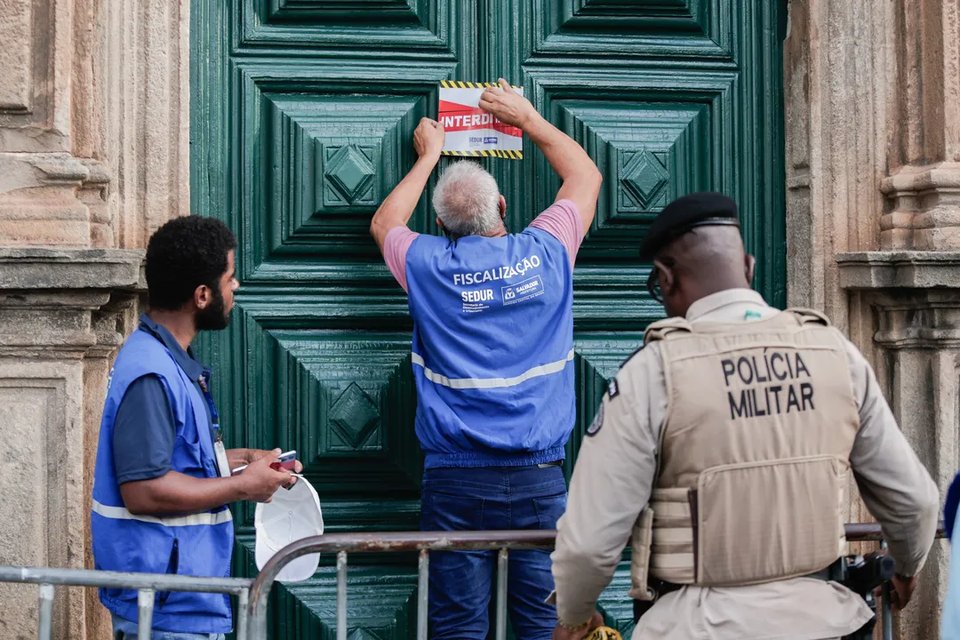
M 244 282 L 390 277 L 370 221 L 416 161 L 413 132 L 449 67 L 412 75 L 409 65 L 340 59 L 238 66 L 242 135 L 231 152 L 238 157 L 231 183 L 250 214 L 250 225 L 238 229 Z M 432 228 L 426 203 L 410 219 L 417 231 Z M 345 262 L 355 267 L 342 269 Z

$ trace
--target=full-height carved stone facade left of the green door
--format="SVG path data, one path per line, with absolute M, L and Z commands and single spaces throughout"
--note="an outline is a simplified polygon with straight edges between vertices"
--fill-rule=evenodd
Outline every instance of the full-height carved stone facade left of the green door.
M 0 564 L 92 567 L 110 359 L 189 209 L 189 6 L 0 0 Z M 95 590 L 57 593 L 54 637 L 110 637 Z M 36 637 L 36 589 L 0 602 L 0 637 Z

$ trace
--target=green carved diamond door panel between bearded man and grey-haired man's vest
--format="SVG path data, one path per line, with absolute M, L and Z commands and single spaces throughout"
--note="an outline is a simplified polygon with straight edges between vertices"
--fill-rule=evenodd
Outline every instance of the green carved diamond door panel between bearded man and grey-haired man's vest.
M 276 326 L 277 313 L 297 312 L 237 300 L 231 331 L 243 332 L 256 398 L 237 419 L 245 429 L 237 436 L 248 446 L 297 450 L 331 531 L 416 527 L 423 456 L 409 329 Z M 239 527 L 252 524 L 252 513 L 238 517 Z

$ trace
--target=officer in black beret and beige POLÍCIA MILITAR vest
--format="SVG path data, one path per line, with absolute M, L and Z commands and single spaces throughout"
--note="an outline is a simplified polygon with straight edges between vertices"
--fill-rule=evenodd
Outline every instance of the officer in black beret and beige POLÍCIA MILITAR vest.
M 668 320 L 610 381 L 553 558 L 558 627 L 582 638 L 632 538 L 637 638 L 839 638 L 872 617 L 823 570 L 844 552 L 848 471 L 910 600 L 939 496 L 872 368 L 823 315 L 752 291 L 730 199 L 668 205 L 641 248 Z

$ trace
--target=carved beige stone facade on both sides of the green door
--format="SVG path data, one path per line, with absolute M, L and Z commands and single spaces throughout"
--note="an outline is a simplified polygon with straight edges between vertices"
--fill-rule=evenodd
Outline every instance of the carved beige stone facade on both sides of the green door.
M 189 209 L 189 0 L 0 0 L 0 563 L 90 566 L 92 461 L 142 249 Z M 958 465 L 960 0 L 793 0 L 788 291 L 867 354 L 942 488 Z M 24 482 L 29 479 L 30 482 Z M 852 517 L 869 519 L 858 502 Z M 938 542 L 901 638 L 936 637 Z M 59 590 L 56 637 L 105 638 Z M 0 635 L 36 596 L 0 585 Z

